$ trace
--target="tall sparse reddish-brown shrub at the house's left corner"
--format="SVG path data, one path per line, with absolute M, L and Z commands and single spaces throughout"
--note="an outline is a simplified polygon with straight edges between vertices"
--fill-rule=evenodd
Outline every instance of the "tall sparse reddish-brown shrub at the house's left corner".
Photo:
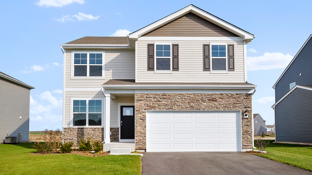
M 45 136 L 44 141 L 46 142 L 46 145 L 50 147 L 51 151 L 56 151 L 57 149 L 60 148 L 62 144 L 61 133 L 62 132 L 59 130 L 56 130 L 56 131 L 50 130 L 47 132 L 47 135 Z

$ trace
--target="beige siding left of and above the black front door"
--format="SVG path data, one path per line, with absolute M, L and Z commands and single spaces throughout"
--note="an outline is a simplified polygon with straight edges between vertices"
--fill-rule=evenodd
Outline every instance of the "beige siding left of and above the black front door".
M 110 127 L 118 127 L 118 103 L 134 103 L 134 96 L 117 96 L 110 100 Z

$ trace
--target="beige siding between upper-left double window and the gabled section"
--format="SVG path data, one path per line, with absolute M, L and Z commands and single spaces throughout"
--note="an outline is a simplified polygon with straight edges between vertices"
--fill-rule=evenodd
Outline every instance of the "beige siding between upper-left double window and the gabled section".
M 135 51 L 105 51 L 106 79 L 135 79 Z

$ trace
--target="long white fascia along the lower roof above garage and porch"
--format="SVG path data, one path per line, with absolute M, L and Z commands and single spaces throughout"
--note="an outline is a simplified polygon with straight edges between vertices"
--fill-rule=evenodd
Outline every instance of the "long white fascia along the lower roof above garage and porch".
M 104 89 L 254 89 L 256 85 L 102 85 Z

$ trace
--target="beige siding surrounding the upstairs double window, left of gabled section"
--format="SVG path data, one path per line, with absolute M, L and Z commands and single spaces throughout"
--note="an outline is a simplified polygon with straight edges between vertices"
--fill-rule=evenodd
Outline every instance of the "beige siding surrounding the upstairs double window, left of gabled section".
M 105 79 L 71 78 L 71 50 L 66 50 L 65 88 L 100 88 L 108 79 L 135 79 L 133 50 L 105 50 Z

